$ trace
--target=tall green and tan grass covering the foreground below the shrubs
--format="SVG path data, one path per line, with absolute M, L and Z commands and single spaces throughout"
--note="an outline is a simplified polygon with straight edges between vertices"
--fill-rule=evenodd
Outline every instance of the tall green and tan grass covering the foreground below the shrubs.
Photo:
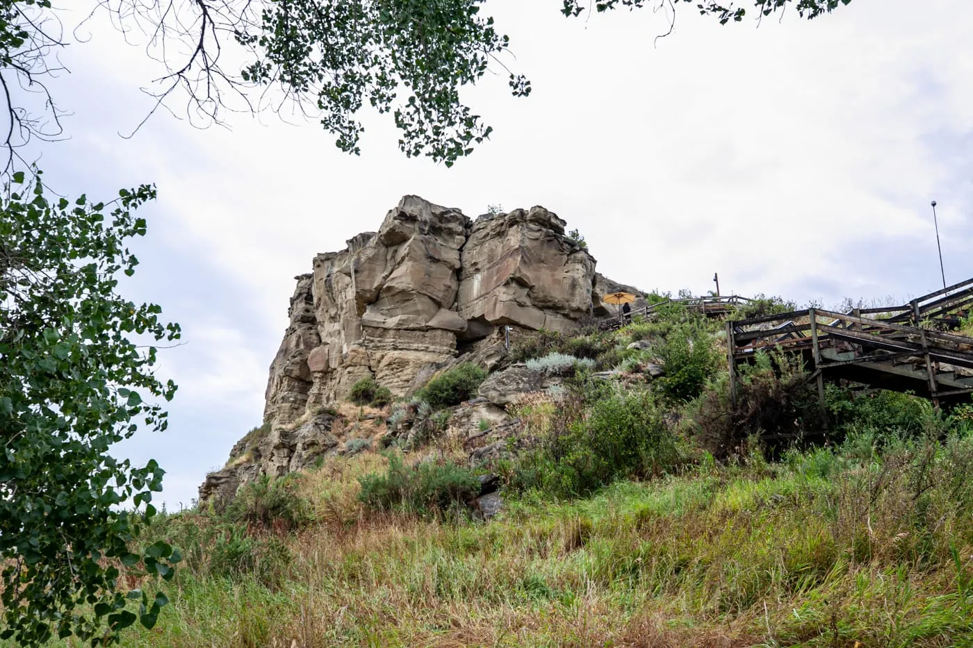
M 947 646 L 973 641 L 973 440 L 850 438 L 593 496 L 508 502 L 488 523 L 370 512 L 363 454 L 307 476 L 315 522 L 272 537 L 280 577 L 187 564 L 126 645 Z M 330 513 L 326 513 L 330 511 Z M 183 530 L 179 530 L 183 528 Z M 173 538 L 176 539 L 176 538 Z M 196 543 L 192 547 L 188 544 Z M 272 561 L 284 558 L 264 558 Z

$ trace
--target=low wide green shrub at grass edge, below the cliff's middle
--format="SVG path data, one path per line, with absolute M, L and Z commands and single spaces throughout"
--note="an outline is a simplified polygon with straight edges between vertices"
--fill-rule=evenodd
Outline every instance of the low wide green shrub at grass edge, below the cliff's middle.
M 412 511 L 442 515 L 456 510 L 479 493 L 473 473 L 452 463 L 407 466 L 398 454 L 388 456 L 388 470 L 359 478 L 358 494 L 366 506 L 379 511 Z

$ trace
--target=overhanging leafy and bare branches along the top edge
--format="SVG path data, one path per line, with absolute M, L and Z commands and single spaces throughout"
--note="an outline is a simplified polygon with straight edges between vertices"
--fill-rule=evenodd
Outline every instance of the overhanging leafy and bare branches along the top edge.
M 65 0 L 61 0 L 66 6 Z M 460 91 L 488 71 L 507 77 L 515 96 L 530 82 L 508 68 L 510 39 L 486 16 L 487 0 L 90 0 L 111 14 L 126 36 L 142 32 L 148 52 L 166 66 L 156 96 L 188 96 L 198 125 L 226 110 L 291 110 L 320 121 L 342 151 L 359 153 L 362 108 L 391 116 L 407 156 L 452 164 L 492 131 Z M 850 0 L 745 0 L 758 17 L 793 7 L 817 18 Z M 666 8 L 690 3 L 721 23 L 740 21 L 746 8 L 726 0 L 562 0 L 578 17 L 618 8 Z M 72 5 L 78 4 L 75 1 Z M 32 135 L 60 132 L 56 104 L 49 117 L 18 102 L 21 87 L 51 99 L 44 78 L 64 44 L 53 0 L 0 0 L 0 101 L 6 97 L 11 150 Z M 0 104 L 2 105 L 2 104 Z M 170 106 L 171 107 L 171 106 Z M 153 111 L 154 112 L 154 111 Z M 2 135 L 0 135 L 2 137 Z

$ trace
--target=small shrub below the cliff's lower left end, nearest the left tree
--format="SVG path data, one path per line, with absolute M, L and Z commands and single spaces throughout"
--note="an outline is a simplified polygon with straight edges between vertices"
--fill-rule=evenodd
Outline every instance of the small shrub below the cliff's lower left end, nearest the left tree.
M 290 473 L 271 480 L 261 475 L 252 484 L 243 486 L 236 495 L 227 516 L 234 522 L 250 522 L 264 526 L 300 528 L 313 522 L 310 502 L 300 494 L 302 476 Z

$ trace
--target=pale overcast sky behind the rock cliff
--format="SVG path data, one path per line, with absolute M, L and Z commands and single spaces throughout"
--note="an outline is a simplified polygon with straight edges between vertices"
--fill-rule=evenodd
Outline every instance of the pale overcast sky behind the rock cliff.
M 533 82 L 468 96 L 494 126 L 452 168 L 408 160 L 369 117 L 361 157 L 313 123 L 272 115 L 200 130 L 139 91 L 160 69 L 106 23 L 54 84 L 70 139 L 40 165 L 62 194 L 110 198 L 155 182 L 142 261 L 122 284 L 162 305 L 185 344 L 162 352 L 180 385 L 163 434 L 120 452 L 159 459 L 169 508 L 189 505 L 261 422 L 293 277 L 317 252 L 378 229 L 403 195 L 475 217 L 540 204 L 577 228 L 598 270 L 645 290 L 905 301 L 973 276 L 973 4 L 855 0 L 812 22 L 720 26 L 683 6 L 566 19 L 558 0 L 488 0 Z M 179 109 L 179 97 L 172 107 Z

